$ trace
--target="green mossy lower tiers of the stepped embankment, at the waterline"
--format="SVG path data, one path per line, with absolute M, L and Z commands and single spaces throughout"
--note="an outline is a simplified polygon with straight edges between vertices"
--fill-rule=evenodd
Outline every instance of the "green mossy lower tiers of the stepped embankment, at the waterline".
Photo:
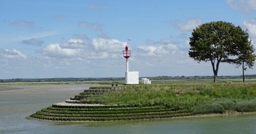
M 98 105 L 98 104 L 97 104 Z M 162 106 L 108 108 L 111 106 L 65 106 L 68 108 L 48 107 L 30 117 L 53 121 L 120 121 L 154 118 L 172 118 L 195 115 L 185 110 L 176 111 Z M 115 106 L 117 107 L 117 106 Z

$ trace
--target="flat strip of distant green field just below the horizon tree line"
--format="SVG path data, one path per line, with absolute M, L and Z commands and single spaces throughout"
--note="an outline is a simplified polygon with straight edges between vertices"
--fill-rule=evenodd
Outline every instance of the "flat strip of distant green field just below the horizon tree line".
M 218 83 L 225 83 L 232 81 L 232 83 L 243 83 L 243 79 L 219 79 Z M 9 82 L 0 83 L 0 85 L 25 85 L 25 84 L 111 84 L 113 81 L 63 81 L 63 82 Z M 117 81 L 119 84 L 124 84 L 125 81 Z M 141 81 L 140 81 L 141 82 Z M 245 79 L 246 83 L 256 83 L 256 79 Z M 210 84 L 213 79 L 186 79 L 186 80 L 151 80 L 152 84 Z

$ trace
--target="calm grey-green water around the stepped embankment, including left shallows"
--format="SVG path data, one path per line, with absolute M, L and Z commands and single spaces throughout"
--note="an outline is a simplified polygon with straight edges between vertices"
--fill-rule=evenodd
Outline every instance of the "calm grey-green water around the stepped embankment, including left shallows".
M 128 122 L 63 123 L 25 117 L 89 88 L 88 84 L 0 87 L 0 133 L 256 134 L 256 115 Z

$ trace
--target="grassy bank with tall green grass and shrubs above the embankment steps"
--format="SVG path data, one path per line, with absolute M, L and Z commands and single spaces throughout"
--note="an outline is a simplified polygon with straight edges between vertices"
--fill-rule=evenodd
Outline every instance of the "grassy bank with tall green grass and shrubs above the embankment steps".
M 84 101 L 107 105 L 160 105 L 194 113 L 256 111 L 256 84 L 136 85 Z

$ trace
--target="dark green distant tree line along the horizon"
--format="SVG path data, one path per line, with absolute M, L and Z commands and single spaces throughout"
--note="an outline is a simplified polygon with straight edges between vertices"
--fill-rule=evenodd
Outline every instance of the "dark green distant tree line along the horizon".
M 150 80 L 185 80 L 185 79 L 213 79 L 214 76 L 156 76 L 156 77 L 140 77 L 149 78 Z M 218 76 L 218 79 L 235 79 L 243 78 L 243 75 L 234 76 Z M 245 75 L 247 79 L 256 78 L 256 74 Z M 70 81 L 119 81 L 125 80 L 125 77 L 108 77 L 108 78 L 35 78 L 35 79 L 0 79 L 1 83 L 4 82 L 70 82 Z

